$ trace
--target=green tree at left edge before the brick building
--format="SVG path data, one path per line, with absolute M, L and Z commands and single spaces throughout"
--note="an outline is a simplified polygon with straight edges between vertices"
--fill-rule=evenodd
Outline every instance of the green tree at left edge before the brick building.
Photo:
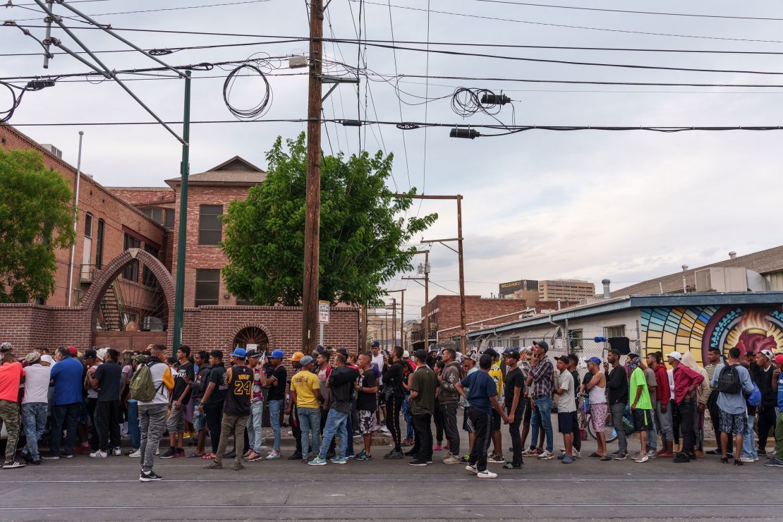
M 74 243 L 72 197 L 41 153 L 0 149 L 0 302 L 54 291 L 54 251 Z

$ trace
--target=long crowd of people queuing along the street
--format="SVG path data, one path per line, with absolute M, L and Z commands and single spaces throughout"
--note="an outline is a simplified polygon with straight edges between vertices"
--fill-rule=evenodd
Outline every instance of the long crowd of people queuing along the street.
M 659 458 L 691 463 L 708 454 L 742 466 L 761 455 L 768 457 L 767 466 L 783 467 L 783 355 L 768 350 L 742 355 L 732 347 L 724 359 L 711 350 L 709 365 L 702 368 L 690 353 L 677 351 L 666 357 L 630 354 L 622 364 L 616 350 L 608 351 L 605 362 L 573 354 L 551 358 L 548 351 L 545 341 L 502 354 L 493 348 L 461 354 L 449 347 L 413 354 L 394 347 L 385 353 L 374 343 L 358 355 L 345 347 L 319 346 L 310 355 L 294 353 L 286 365 L 281 350 L 267 355 L 236 347 L 224 362 L 220 350 L 192 354 L 187 346 L 175 357 L 160 344 L 122 354 L 110 347 L 84 353 L 60 347 L 54 354 L 40 348 L 17 356 L 3 343 L 0 422 L 7 443 L 2 468 L 76 453 L 96 459 L 123 455 L 121 438 L 127 434 L 125 455 L 140 459 L 139 481 L 161 480 L 153 470 L 156 457 L 204 459 L 207 470 L 222 469 L 229 459 L 233 470 L 242 470 L 247 463 L 283 456 L 286 417 L 296 444 L 286 458 L 309 466 L 372 460 L 373 432 L 382 430 L 391 439 L 383 459 L 409 457 L 410 466 L 429 466 L 438 451 L 442 463 L 462 464 L 479 478 L 497 477 L 489 464 L 519 470 L 524 456 L 564 464 L 582 457 L 629 459 L 633 432 L 639 440 L 636 463 Z M 559 455 L 555 405 L 563 443 Z M 598 439 L 590 455 L 582 454 L 580 411 L 589 412 Z M 264 455 L 267 412 L 272 440 L 266 441 L 271 448 Z M 705 412 L 717 445 L 706 452 Z M 38 444 L 47 426 L 49 452 L 41 454 Z M 503 452 L 505 426 L 510 459 Z M 613 453 L 607 426 L 617 435 Z M 777 446 L 767 455 L 771 429 Z M 168 448 L 161 454 L 167 431 Z M 24 463 L 16 457 L 21 434 Z M 231 437 L 233 450 L 226 452 Z M 187 455 L 186 439 L 196 441 Z

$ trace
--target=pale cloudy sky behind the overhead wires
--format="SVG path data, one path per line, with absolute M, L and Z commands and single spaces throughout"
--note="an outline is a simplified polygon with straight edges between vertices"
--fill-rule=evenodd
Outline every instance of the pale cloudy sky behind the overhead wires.
M 4 20 L 41 26 L 32 0 L 4 9 Z M 268 42 L 309 34 L 307 4 L 299 0 L 95 0 L 73 3 L 101 23 L 119 29 L 204 31 L 221 35 L 121 31 L 143 49 L 193 45 Z M 488 45 L 547 45 L 622 49 L 720 50 L 783 52 L 783 5 L 776 2 L 604 2 L 551 0 L 549 7 L 522 0 L 368 0 L 363 2 L 362 38 L 412 41 L 406 47 L 490 55 L 750 72 L 697 72 L 572 63 L 541 63 L 435 52 L 362 48 L 361 67 L 373 72 L 361 78 L 359 95 L 341 85 L 324 103 L 327 118 L 372 121 L 428 121 L 442 124 L 496 124 L 478 113 L 460 117 L 450 96 L 456 88 L 488 88 L 513 102 L 496 118 L 503 124 L 576 126 L 752 126 L 783 120 L 783 67 L 778 56 L 697 52 L 631 52 L 586 49 L 519 49 Z M 231 4 L 214 5 L 211 4 Z M 571 6 L 588 9 L 561 9 Z M 150 13 L 121 13 L 161 9 Z M 200 6 L 196 9 L 175 9 Z M 27 9 L 25 9 L 27 7 Z M 57 13 L 64 12 L 57 6 Z M 428 12 L 429 9 L 429 12 Z M 590 9 L 634 9 L 666 16 Z M 713 17 L 715 15 L 725 17 Z M 777 18 L 746 20 L 741 17 Z M 332 0 L 327 9 L 327 38 L 356 39 L 358 0 Z M 66 20 L 69 27 L 84 23 Z M 41 47 L 16 27 L 0 26 L 0 77 L 83 72 L 71 56 L 58 55 L 49 70 L 42 67 Z M 30 27 L 43 38 L 44 29 Z M 77 32 L 93 51 L 128 49 L 103 31 Z M 251 36 L 226 36 L 248 34 Z M 78 45 L 62 30 L 52 32 L 71 49 Z M 393 34 L 393 37 L 392 37 Z M 276 38 L 282 39 L 282 38 Z M 482 45 L 442 45 L 470 43 Z M 305 54 L 306 41 L 182 50 L 163 56 L 171 65 L 214 63 L 263 56 Z M 326 44 L 327 59 L 356 67 L 353 43 Z M 4 56 L 35 53 L 32 56 Z M 111 69 L 157 65 L 138 52 L 98 55 Z M 272 100 L 261 121 L 194 124 L 190 136 L 191 172 L 205 171 L 239 155 L 265 167 L 265 151 L 276 136 L 294 137 L 301 123 L 265 120 L 306 117 L 305 70 L 287 69 L 287 60 L 271 60 Z M 231 67 L 227 66 L 226 70 Z M 345 68 L 338 67 L 341 70 Z M 234 120 L 222 97 L 226 70 L 193 73 L 194 121 Z M 281 76 L 280 74 L 286 74 Z M 291 75 L 293 74 L 293 75 Z M 381 78 L 375 74 L 384 74 Z M 399 83 L 392 75 L 398 77 Z M 429 76 L 427 81 L 424 77 Z M 442 79 L 434 76 L 480 79 Z M 143 76 L 127 85 L 165 121 L 181 121 L 183 82 Z M 669 87 L 520 82 L 511 79 L 621 81 L 699 84 L 780 85 L 775 88 Z M 38 142 L 53 143 L 63 159 L 76 164 L 78 131 L 85 131 L 83 170 L 103 185 L 163 186 L 179 175 L 179 142 L 157 125 L 78 125 L 88 122 L 152 121 L 119 85 L 106 81 L 57 82 L 54 88 L 27 92 L 11 124 Z M 396 85 L 396 89 L 395 89 Z M 258 78 L 236 82 L 231 101 L 253 106 L 261 98 Z M 429 101 L 428 101 L 429 100 Z M 427 103 L 424 103 L 427 102 Z M 0 94 L 5 110 L 9 99 Z M 366 108 L 365 108 L 366 104 Z M 358 106 L 358 108 L 357 108 Z M 513 106 L 513 113 L 512 108 Z M 357 115 L 359 110 L 359 115 Z M 25 124 L 67 123 L 69 126 Z M 179 131 L 179 126 L 175 126 Z M 781 131 L 543 131 L 451 139 L 449 128 L 401 131 L 394 125 L 368 125 L 360 131 L 325 124 L 327 153 L 383 149 L 394 153 L 391 189 L 416 187 L 419 193 L 460 193 L 467 294 L 489 297 L 498 283 L 514 279 L 585 279 L 612 290 L 728 257 L 777 246 L 770 222 L 778 220 L 779 184 L 773 180 L 781 163 Z M 482 131 L 484 132 L 484 131 Z M 486 131 L 490 133 L 491 131 Z M 361 135 L 361 138 L 359 138 Z M 424 201 L 411 213 L 438 212 L 438 222 L 424 239 L 456 237 L 453 201 Z M 414 238 L 418 243 L 421 238 Z M 454 245 L 452 245 L 454 246 Z M 418 263 L 418 259 L 414 264 Z M 431 296 L 456 293 L 456 254 L 431 247 Z M 389 289 L 406 288 L 406 319 L 420 315 L 424 292 L 399 274 Z M 438 287 L 439 286 L 439 287 Z

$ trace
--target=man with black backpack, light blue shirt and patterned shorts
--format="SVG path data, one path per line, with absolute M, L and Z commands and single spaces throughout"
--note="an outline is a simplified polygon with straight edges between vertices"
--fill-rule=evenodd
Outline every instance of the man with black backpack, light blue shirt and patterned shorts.
M 726 448 L 731 434 L 734 434 L 735 447 L 742 448 L 742 434 L 748 430 L 748 411 L 743 394 L 753 391 L 750 373 L 739 362 L 739 348 L 729 348 L 728 355 L 728 362 L 717 365 L 713 374 L 713 386 L 718 390 L 720 447 L 723 451 L 720 462 L 723 464 L 729 463 Z M 743 464 L 738 456 L 734 458 L 734 466 Z

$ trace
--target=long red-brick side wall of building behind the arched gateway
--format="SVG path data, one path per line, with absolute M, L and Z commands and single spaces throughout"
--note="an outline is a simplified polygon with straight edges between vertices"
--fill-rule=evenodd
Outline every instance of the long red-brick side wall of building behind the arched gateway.
M 33 139 L 23 135 L 15 128 L 0 124 L 0 146 L 5 150 L 33 149 L 43 154 L 44 165 L 52 171 L 58 171 L 68 182 L 71 191 L 76 193 L 76 169 L 48 150 L 41 148 Z M 141 211 L 124 202 L 119 197 L 100 185 L 94 179 L 82 173 L 79 188 L 79 222 L 77 226 L 76 243 L 74 251 L 74 284 L 73 288 L 80 287 L 79 268 L 85 260 L 85 214 L 92 214 L 92 245 L 87 259 L 88 265 L 96 262 L 98 249 L 97 231 L 98 222 L 104 222 L 103 237 L 103 264 L 105 265 L 124 250 L 123 227 L 132 230 L 139 236 L 150 239 L 164 249 L 166 246 L 166 231 L 146 217 Z M 161 259 L 165 253 L 161 252 Z M 68 265 L 70 263 L 70 250 L 56 250 L 56 274 L 55 290 L 52 295 L 46 297 L 46 304 L 52 306 L 65 306 L 68 302 Z M 141 275 L 139 268 L 139 278 Z M 74 293 L 74 304 L 76 294 Z

